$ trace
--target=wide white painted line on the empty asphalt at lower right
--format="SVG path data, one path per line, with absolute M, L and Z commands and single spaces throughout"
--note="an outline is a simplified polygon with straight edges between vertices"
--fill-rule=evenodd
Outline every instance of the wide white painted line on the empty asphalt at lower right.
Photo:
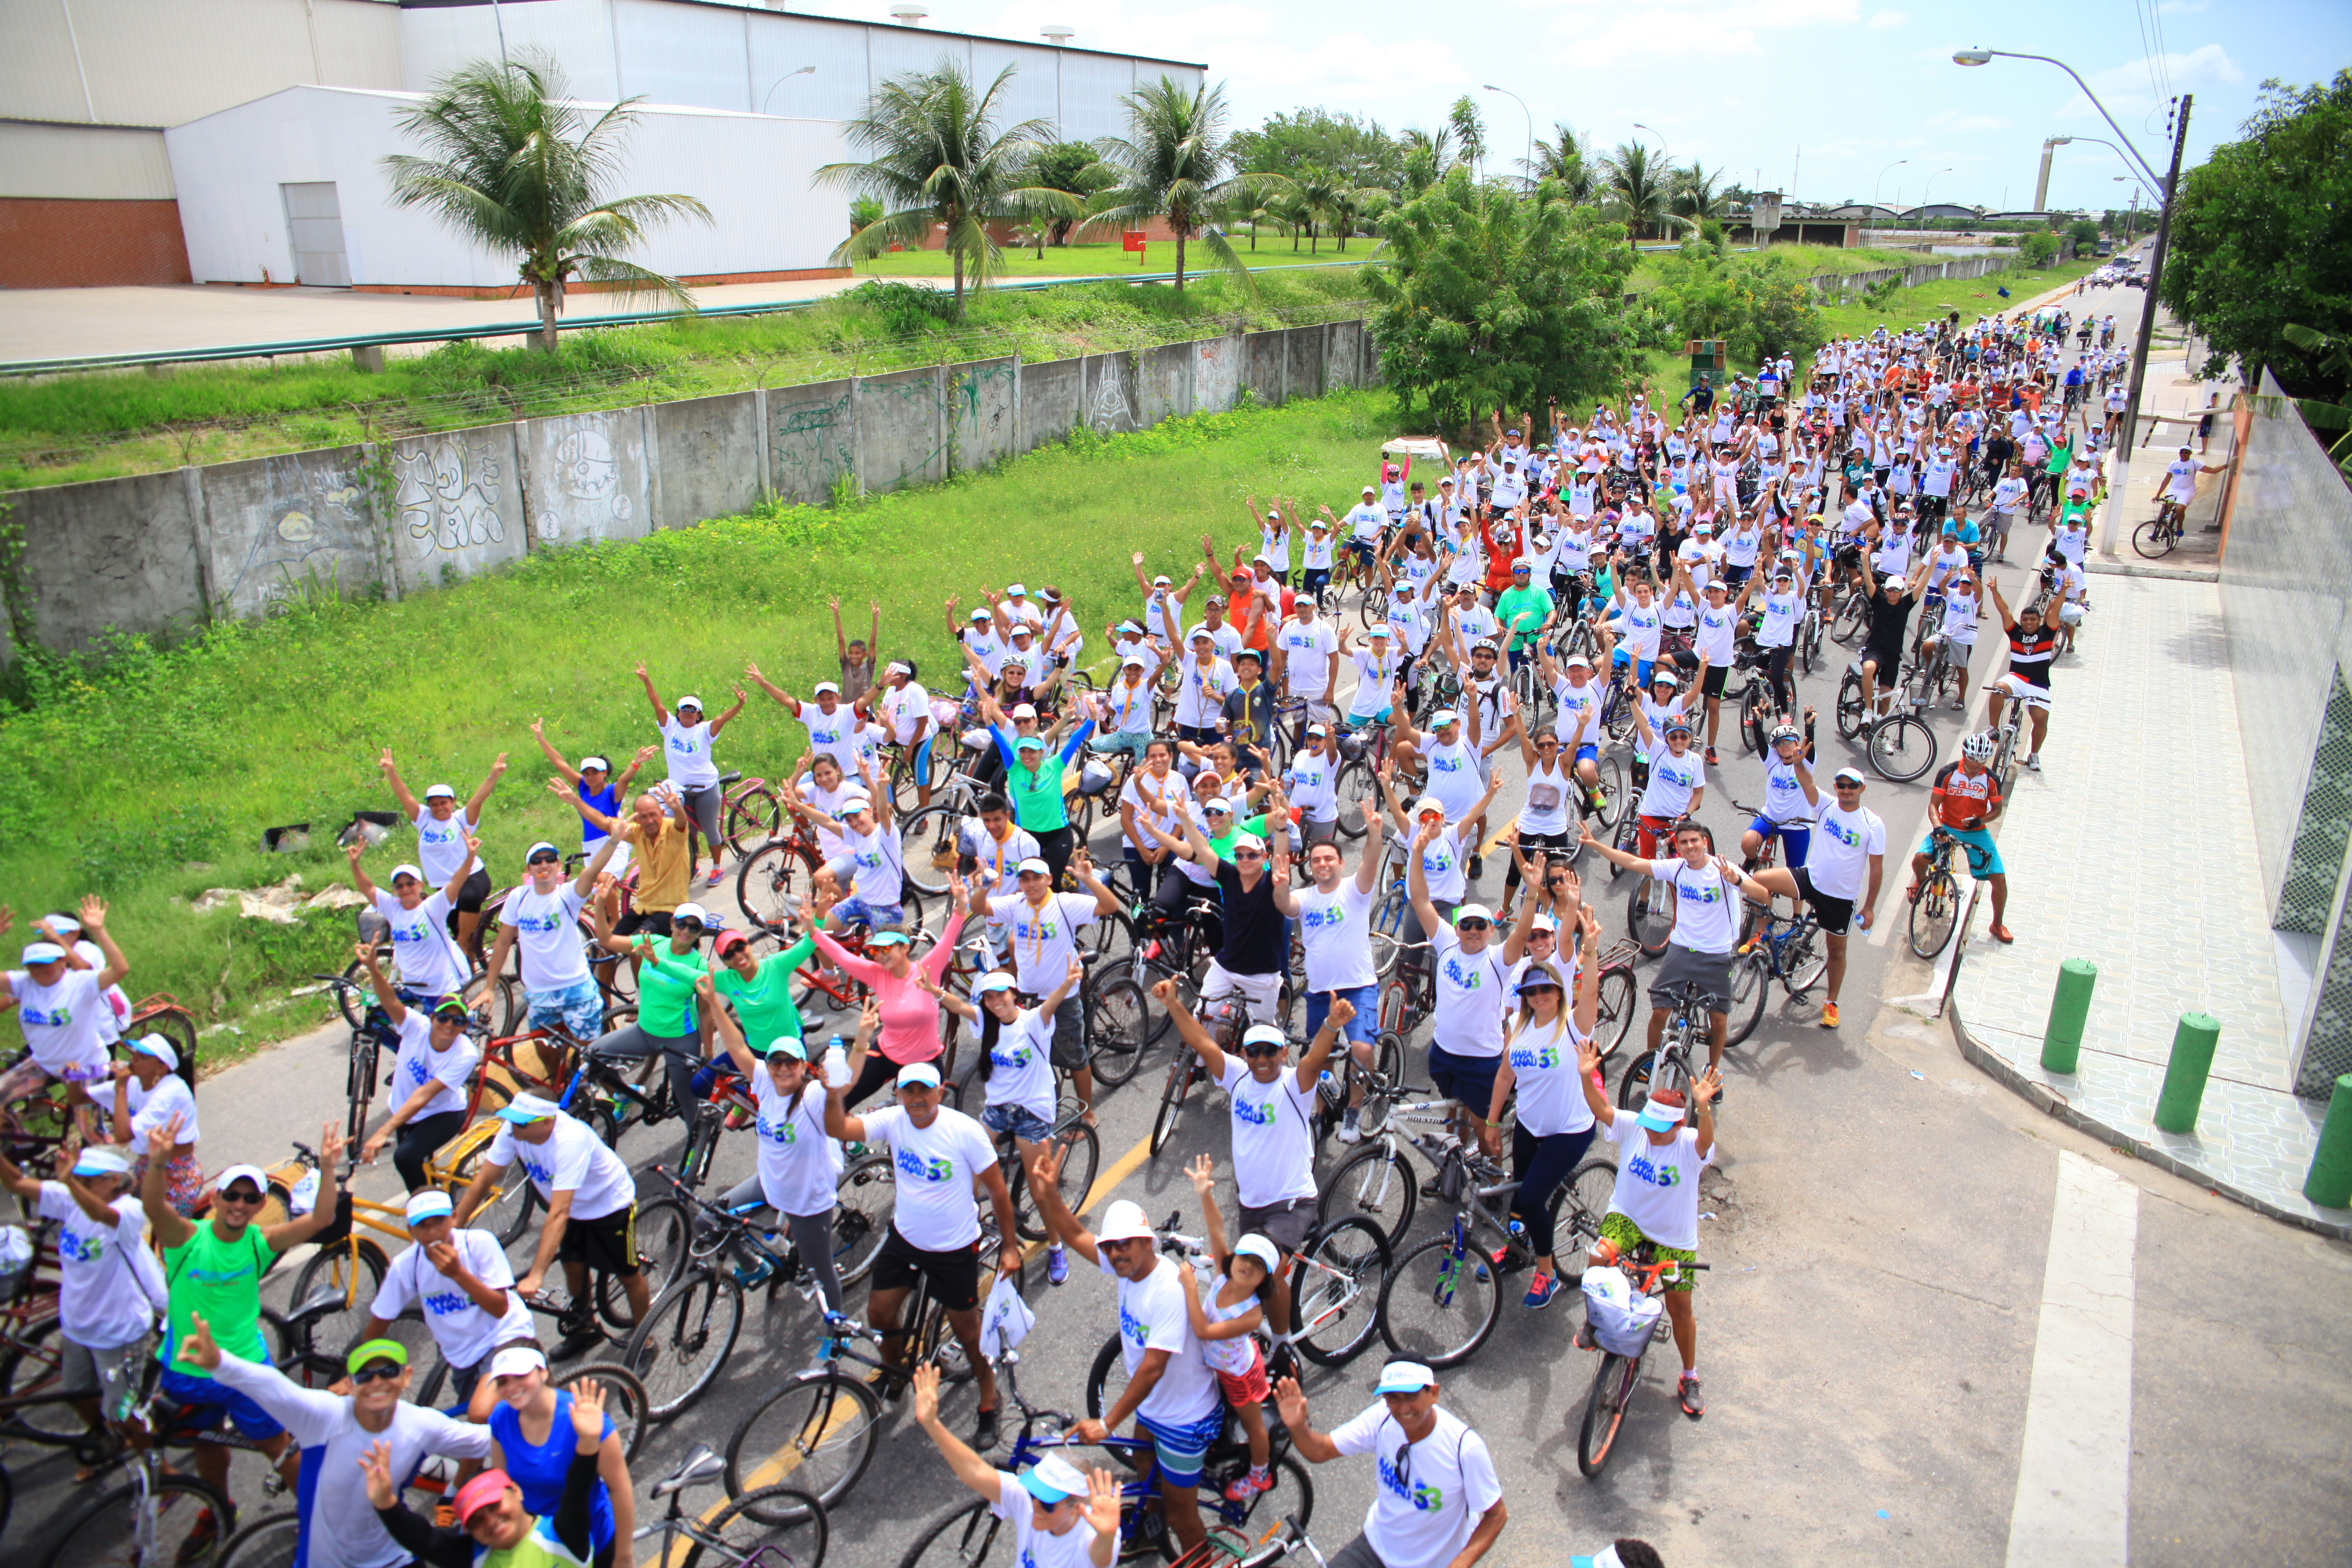
M 2060 1152 L 2009 1568 L 2124 1568 L 2129 1556 L 2138 1232 L 2140 1190 Z

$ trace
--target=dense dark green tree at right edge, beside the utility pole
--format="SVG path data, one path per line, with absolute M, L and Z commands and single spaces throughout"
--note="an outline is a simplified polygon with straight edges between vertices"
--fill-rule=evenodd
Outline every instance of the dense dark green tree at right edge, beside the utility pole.
M 2159 296 L 2211 343 L 2206 376 L 2267 364 L 2298 397 L 2352 402 L 2343 369 L 2286 331 L 2352 336 L 2352 71 L 2263 82 L 2239 129 L 2180 176 Z

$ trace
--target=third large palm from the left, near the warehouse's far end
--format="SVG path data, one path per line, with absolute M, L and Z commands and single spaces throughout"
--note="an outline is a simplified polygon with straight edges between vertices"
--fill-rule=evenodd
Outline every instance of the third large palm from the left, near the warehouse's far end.
M 1185 89 L 1162 75 L 1143 92 L 1124 94 L 1120 103 L 1127 108 L 1127 134 L 1094 143 L 1112 188 L 1103 193 L 1105 205 L 1087 219 L 1087 226 L 1127 228 L 1162 219 L 1176 235 L 1178 294 L 1183 294 L 1183 247 L 1192 237 L 1200 237 L 1216 266 L 1247 282 L 1249 268 L 1232 254 L 1225 235 L 1209 228 L 1209 214 L 1240 190 L 1279 188 L 1289 181 L 1279 174 L 1230 172 L 1225 89 L 1207 82 Z

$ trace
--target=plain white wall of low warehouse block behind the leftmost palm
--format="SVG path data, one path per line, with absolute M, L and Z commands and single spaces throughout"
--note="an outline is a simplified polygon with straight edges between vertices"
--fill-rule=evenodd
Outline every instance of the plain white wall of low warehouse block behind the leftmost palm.
M 513 7 L 513 12 L 553 5 Z M 188 270 L 198 282 L 294 280 L 287 181 L 334 181 L 343 254 L 362 287 L 510 287 L 515 263 L 459 240 L 435 216 L 393 207 L 381 160 L 423 153 L 397 127 L 416 94 L 287 87 L 165 132 Z M 602 106 L 583 106 L 595 113 Z M 828 266 L 849 233 L 847 197 L 809 172 L 842 158 L 830 120 L 640 106 L 621 195 L 684 193 L 710 223 L 670 223 L 630 261 L 670 277 Z

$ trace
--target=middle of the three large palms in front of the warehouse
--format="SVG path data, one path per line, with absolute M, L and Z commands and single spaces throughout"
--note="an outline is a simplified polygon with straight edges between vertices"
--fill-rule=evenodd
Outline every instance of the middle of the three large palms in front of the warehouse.
M 833 266 L 880 256 L 891 244 L 920 247 L 943 226 L 955 256 L 955 317 L 962 320 L 964 275 L 981 287 L 1004 261 L 990 223 L 1049 223 L 1084 212 L 1068 190 L 1025 183 L 1030 160 L 1054 139 L 1054 122 L 997 129 L 997 99 L 1011 75 L 1007 66 L 988 92 L 974 92 L 971 78 L 941 59 L 931 71 L 908 71 L 875 89 L 866 113 L 842 125 L 849 146 L 868 160 L 828 162 L 816 181 L 882 197 L 889 212 L 833 247 Z

